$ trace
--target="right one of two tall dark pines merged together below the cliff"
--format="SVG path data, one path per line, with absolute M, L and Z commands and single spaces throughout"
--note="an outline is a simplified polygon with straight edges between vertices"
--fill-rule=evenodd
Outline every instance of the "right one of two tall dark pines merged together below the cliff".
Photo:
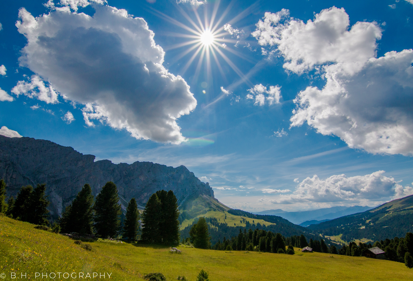
M 166 245 L 178 245 L 179 244 L 179 210 L 178 210 L 178 200 L 173 194 L 172 190 L 168 191 L 166 195 L 166 201 L 164 203 L 165 213 L 164 213 L 164 237 L 162 238 L 163 243 Z

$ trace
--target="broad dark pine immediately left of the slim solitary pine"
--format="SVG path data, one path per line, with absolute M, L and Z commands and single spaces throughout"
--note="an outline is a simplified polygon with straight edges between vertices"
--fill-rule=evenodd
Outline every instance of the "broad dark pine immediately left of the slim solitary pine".
M 100 193 L 96 196 L 94 227 L 96 234 L 100 237 L 114 237 L 120 230 L 119 216 L 122 213 L 121 204 L 119 204 L 119 195 L 116 185 L 107 182 Z

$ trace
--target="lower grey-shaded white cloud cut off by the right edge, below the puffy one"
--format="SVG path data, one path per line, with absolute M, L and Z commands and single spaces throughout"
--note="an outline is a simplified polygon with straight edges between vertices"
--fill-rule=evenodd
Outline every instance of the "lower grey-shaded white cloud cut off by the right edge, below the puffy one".
M 370 153 L 413 154 L 413 50 L 371 58 L 354 75 L 326 67 L 323 89 L 307 87 L 294 103 L 291 126 L 307 122 L 349 147 Z

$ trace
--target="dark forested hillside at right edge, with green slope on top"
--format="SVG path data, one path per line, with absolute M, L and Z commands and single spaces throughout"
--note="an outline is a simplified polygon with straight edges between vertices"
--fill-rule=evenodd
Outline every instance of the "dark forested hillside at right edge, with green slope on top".
M 413 232 L 413 195 L 387 202 L 363 213 L 312 224 L 307 228 L 329 236 L 342 234 L 341 239 L 347 242 L 363 238 L 380 241 L 404 237 L 407 232 Z

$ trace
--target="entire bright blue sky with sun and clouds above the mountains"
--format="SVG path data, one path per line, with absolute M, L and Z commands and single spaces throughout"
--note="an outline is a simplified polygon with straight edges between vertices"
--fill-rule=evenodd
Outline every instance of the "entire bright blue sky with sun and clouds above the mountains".
M 0 132 L 247 211 L 411 195 L 409 1 L 3 1 Z

